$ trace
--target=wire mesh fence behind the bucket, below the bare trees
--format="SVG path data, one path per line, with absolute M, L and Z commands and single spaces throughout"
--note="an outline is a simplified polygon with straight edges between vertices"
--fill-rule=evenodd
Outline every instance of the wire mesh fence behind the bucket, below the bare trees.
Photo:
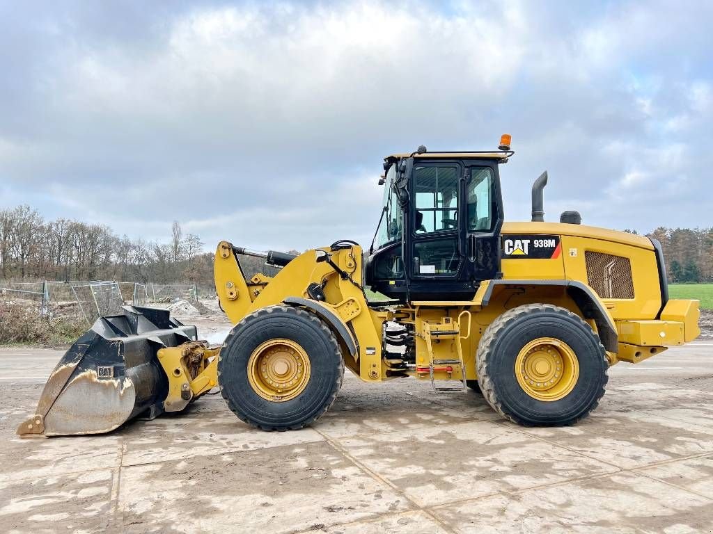
M 203 293 L 203 292 L 202 292 Z M 207 291 L 210 294 L 210 290 Z M 81 318 L 92 325 L 99 317 L 121 313 L 121 306 L 198 301 L 195 284 L 154 284 L 116 281 L 0 283 L 0 303 L 16 303 L 39 310 L 46 317 Z M 215 295 L 215 290 L 212 291 Z

